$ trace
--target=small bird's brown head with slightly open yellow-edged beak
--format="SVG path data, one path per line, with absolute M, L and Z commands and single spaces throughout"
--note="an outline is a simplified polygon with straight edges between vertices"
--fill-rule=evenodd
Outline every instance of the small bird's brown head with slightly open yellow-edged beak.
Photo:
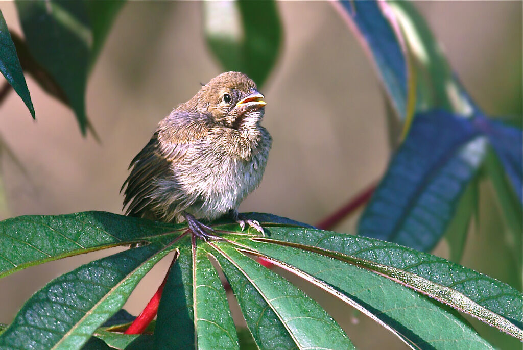
M 239 72 L 212 78 L 188 103 L 199 112 L 210 113 L 216 123 L 234 129 L 256 126 L 267 104 L 256 83 Z

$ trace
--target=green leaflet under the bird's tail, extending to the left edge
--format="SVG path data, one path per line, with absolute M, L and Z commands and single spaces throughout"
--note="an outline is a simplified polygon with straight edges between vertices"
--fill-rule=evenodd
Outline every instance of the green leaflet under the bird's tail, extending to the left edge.
M 179 235 L 183 227 L 105 212 L 10 218 L 0 221 L 0 277 L 66 256 Z

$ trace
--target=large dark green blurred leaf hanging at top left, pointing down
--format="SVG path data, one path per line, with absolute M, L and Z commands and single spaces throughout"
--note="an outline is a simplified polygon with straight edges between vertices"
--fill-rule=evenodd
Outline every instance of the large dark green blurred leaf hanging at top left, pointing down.
M 93 34 L 84 3 L 17 1 L 16 5 L 29 51 L 62 88 L 85 134 L 85 88 Z

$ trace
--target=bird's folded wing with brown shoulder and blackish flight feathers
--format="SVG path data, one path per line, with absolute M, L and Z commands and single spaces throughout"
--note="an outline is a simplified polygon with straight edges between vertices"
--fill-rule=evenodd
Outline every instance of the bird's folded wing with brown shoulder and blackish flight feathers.
M 159 200 L 158 180 L 172 178 L 171 165 L 183 159 L 191 144 L 207 134 L 210 122 L 208 115 L 178 110 L 160 122 L 149 143 L 131 161 L 131 173 L 120 189 L 125 188 L 123 207 L 129 204 L 127 215 L 154 214 L 151 208 L 161 204 L 155 203 Z

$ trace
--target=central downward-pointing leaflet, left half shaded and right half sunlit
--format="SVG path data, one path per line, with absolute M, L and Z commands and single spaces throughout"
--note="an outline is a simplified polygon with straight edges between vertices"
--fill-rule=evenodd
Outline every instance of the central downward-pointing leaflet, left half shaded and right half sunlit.
M 185 277 L 180 275 L 179 265 L 174 265 L 169 272 L 164 287 L 164 293 L 168 294 L 162 296 L 161 313 L 159 311 L 155 327 L 158 348 L 190 346 L 194 344 L 195 334 L 199 349 L 238 348 L 229 303 L 220 278 L 209 261 L 209 253 L 202 247 L 205 245 L 202 241 L 196 242 L 193 237 L 190 250 L 185 248 L 180 251 L 178 258 L 181 259 L 180 265 L 183 264 L 188 270 L 184 273 Z M 192 299 L 189 299 L 191 296 Z

